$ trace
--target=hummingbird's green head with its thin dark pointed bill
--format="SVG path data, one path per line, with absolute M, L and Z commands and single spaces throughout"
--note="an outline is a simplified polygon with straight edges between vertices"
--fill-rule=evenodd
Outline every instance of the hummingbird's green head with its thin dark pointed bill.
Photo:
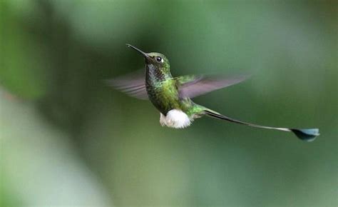
M 135 46 L 132 46 L 130 44 L 126 44 L 128 47 L 135 49 L 135 51 L 138 51 L 140 54 L 142 54 L 145 57 L 145 63 L 146 64 L 152 64 L 154 66 L 158 66 L 160 68 L 169 68 L 170 64 L 168 59 L 163 55 L 156 52 L 151 53 L 145 53 L 144 51 L 141 51 L 140 49 L 136 48 Z

